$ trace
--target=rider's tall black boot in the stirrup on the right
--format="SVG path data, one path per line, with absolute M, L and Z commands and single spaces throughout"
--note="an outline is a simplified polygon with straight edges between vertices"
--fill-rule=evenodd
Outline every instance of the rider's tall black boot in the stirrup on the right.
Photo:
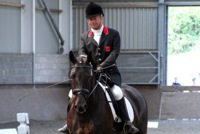
M 121 118 L 124 121 L 124 133 L 135 134 L 139 132 L 139 129 L 136 128 L 132 122 L 130 122 L 124 97 L 121 100 L 117 101 L 117 104 L 119 105 Z

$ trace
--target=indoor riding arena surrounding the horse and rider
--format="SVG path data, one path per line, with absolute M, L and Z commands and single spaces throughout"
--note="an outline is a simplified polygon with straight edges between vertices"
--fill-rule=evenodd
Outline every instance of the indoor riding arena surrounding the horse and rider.
M 0 134 L 19 133 L 20 115 L 30 134 L 59 134 L 71 89 L 69 51 L 77 53 L 89 30 L 91 1 L 102 6 L 104 25 L 119 31 L 117 66 L 122 83 L 147 101 L 147 134 L 199 134 L 200 70 L 185 55 L 198 49 L 199 35 L 177 38 L 195 34 L 197 25 L 185 27 L 199 18 L 192 13 L 200 0 L 0 0 Z M 183 7 L 191 14 L 178 16 Z

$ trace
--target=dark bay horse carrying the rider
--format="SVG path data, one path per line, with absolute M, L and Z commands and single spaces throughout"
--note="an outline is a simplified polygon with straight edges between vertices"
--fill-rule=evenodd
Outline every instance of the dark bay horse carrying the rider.
M 69 53 L 72 68 L 70 72 L 73 99 L 67 114 L 70 134 L 121 134 L 122 123 L 116 123 L 105 97 L 105 92 L 98 84 L 92 65 L 80 57 Z M 134 88 L 124 85 L 123 92 L 134 110 L 134 125 L 137 134 L 147 133 L 147 104 L 144 97 Z M 118 126 L 117 130 L 113 127 Z

